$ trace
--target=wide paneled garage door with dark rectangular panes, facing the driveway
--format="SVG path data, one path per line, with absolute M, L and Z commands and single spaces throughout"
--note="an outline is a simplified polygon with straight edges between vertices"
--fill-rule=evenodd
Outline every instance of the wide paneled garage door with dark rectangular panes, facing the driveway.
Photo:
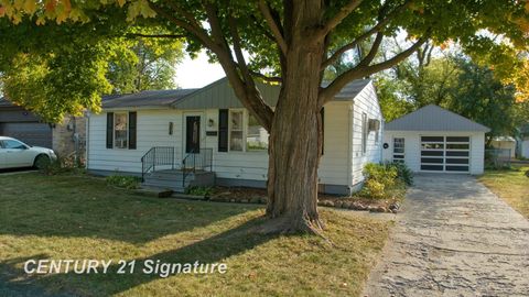
M 469 136 L 421 136 L 421 170 L 468 173 Z

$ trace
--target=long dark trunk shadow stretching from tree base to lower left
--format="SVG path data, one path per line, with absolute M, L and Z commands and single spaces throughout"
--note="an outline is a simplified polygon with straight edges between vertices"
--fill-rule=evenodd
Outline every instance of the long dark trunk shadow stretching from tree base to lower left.
M 278 235 L 256 233 L 256 227 L 262 224 L 264 218 L 256 218 L 238 226 L 237 228 L 218 233 L 212 238 L 182 246 L 180 249 L 158 253 L 148 257 L 136 258 L 133 274 L 117 274 L 120 265 L 112 262 L 107 274 L 47 274 L 29 276 L 23 271 L 28 260 L 48 258 L 44 254 L 31 257 L 11 258 L 0 262 L 0 293 L 2 288 L 18 293 L 18 296 L 109 296 L 127 292 L 137 286 L 160 279 L 158 274 L 144 274 L 143 263 L 147 260 L 160 260 L 161 263 L 223 263 L 226 258 L 255 249 Z M 133 258 L 127 260 L 132 261 Z M 22 267 L 22 268 L 21 268 Z M 230 267 L 224 276 L 229 277 Z M 218 273 L 217 273 L 218 274 Z M 169 275 L 174 277 L 175 275 Z M 204 275 L 192 275 L 203 277 Z M 218 275 L 217 275 L 218 276 Z M 4 284 L 4 285 L 2 285 Z M 156 293 L 149 290 L 151 294 Z M 168 292 L 158 292 L 168 294 Z M 19 295 L 20 294 L 20 295 Z

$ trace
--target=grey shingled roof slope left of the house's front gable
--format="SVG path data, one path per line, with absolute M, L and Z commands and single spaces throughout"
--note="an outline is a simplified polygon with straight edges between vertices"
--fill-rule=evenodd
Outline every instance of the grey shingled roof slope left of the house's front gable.
M 147 90 L 127 95 L 109 95 L 101 99 L 102 108 L 169 107 L 197 89 Z

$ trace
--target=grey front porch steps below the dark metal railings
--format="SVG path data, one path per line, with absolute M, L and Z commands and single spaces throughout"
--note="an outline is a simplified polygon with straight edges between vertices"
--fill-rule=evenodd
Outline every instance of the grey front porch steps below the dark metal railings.
M 144 176 L 143 187 L 171 189 L 175 193 L 185 193 L 187 187 L 212 187 L 215 185 L 215 173 L 196 170 L 187 173 L 183 184 L 184 172 L 181 169 L 165 169 L 149 173 Z

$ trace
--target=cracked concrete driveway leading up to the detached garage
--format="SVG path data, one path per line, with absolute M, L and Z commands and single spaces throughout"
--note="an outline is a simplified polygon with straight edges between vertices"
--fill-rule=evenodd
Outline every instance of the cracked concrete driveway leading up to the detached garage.
M 418 175 L 364 296 L 529 296 L 529 221 L 471 176 Z

